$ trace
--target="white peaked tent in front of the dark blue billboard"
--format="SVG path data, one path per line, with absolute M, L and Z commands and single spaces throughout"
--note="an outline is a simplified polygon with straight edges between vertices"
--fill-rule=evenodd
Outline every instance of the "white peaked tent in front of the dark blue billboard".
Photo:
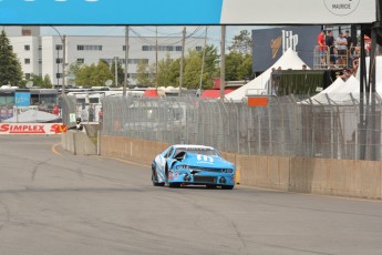
M 298 57 L 297 52 L 289 48 L 272 67 L 244 86 L 226 94 L 226 99 L 229 101 L 241 101 L 247 95 L 267 93 L 267 82 L 270 79 L 272 68 L 278 69 L 281 67 L 282 70 L 301 70 L 303 64 L 306 63 Z

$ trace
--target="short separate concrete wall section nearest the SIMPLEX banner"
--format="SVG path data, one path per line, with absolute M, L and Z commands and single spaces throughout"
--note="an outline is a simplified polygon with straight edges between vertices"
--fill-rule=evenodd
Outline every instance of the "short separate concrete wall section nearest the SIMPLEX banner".
M 62 147 L 74 155 L 96 155 L 96 146 L 82 131 L 69 130 L 61 135 Z

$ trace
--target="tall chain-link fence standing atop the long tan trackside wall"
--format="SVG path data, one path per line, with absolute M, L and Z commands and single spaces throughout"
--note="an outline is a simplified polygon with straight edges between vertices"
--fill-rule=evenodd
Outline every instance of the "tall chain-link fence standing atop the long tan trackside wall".
M 249 155 L 380 161 L 382 102 L 378 94 L 360 98 L 348 94 L 335 104 L 328 95 L 327 101 L 269 96 L 268 106 L 250 108 L 198 98 L 113 96 L 102 102 L 102 133 Z M 66 105 L 63 112 L 73 109 Z

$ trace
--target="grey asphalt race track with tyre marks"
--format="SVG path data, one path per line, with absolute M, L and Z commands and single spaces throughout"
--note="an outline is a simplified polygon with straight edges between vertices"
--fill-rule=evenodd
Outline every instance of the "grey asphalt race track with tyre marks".
M 154 187 L 149 167 L 0 136 L 0 254 L 382 254 L 380 201 Z

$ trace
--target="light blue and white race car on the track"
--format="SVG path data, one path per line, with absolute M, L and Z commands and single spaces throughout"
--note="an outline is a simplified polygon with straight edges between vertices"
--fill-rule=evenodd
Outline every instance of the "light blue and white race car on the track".
M 233 190 L 235 165 L 211 146 L 176 144 L 154 159 L 152 181 L 154 186 L 206 185 Z

